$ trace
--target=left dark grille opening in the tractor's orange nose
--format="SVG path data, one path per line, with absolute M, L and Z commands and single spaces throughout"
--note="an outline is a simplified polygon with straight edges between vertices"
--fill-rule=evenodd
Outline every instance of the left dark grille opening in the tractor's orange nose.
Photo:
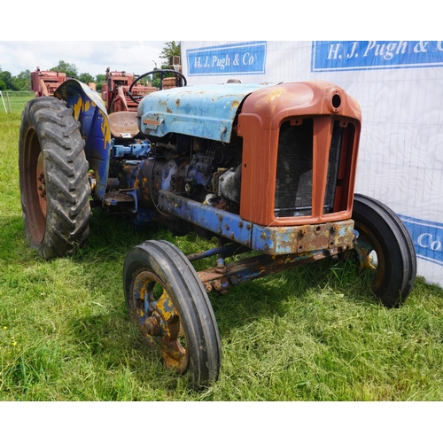
M 312 214 L 313 178 L 312 119 L 280 128 L 276 169 L 276 217 Z

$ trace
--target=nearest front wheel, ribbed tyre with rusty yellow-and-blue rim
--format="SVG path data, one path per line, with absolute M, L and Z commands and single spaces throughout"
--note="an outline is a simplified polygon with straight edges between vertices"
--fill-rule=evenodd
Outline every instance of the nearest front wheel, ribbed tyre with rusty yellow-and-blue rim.
M 183 253 L 166 241 L 137 245 L 126 255 L 123 284 L 129 315 L 166 367 L 188 372 L 194 388 L 213 384 L 221 366 L 217 323 Z

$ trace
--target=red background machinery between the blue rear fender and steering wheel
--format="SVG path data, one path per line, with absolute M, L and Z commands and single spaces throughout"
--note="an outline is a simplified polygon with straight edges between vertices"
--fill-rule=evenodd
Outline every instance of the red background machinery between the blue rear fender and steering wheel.
M 129 99 L 128 96 L 129 86 L 135 78 L 136 75 L 128 74 L 125 71 L 111 71 L 109 67 L 106 69 L 106 82 L 102 87 L 102 99 L 105 101 L 108 113 L 136 112 L 138 104 Z M 147 85 L 136 83 L 132 88 L 134 95 L 137 97 L 144 97 L 156 90 L 157 88 L 153 87 L 151 82 L 148 82 Z

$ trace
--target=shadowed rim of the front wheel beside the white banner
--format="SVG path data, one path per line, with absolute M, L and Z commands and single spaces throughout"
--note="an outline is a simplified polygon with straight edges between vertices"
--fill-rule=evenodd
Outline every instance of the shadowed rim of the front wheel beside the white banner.
M 385 253 L 377 238 L 362 225 L 355 227 L 354 251 L 360 262 L 360 270 L 369 272 L 371 289 L 377 290 L 385 279 Z

